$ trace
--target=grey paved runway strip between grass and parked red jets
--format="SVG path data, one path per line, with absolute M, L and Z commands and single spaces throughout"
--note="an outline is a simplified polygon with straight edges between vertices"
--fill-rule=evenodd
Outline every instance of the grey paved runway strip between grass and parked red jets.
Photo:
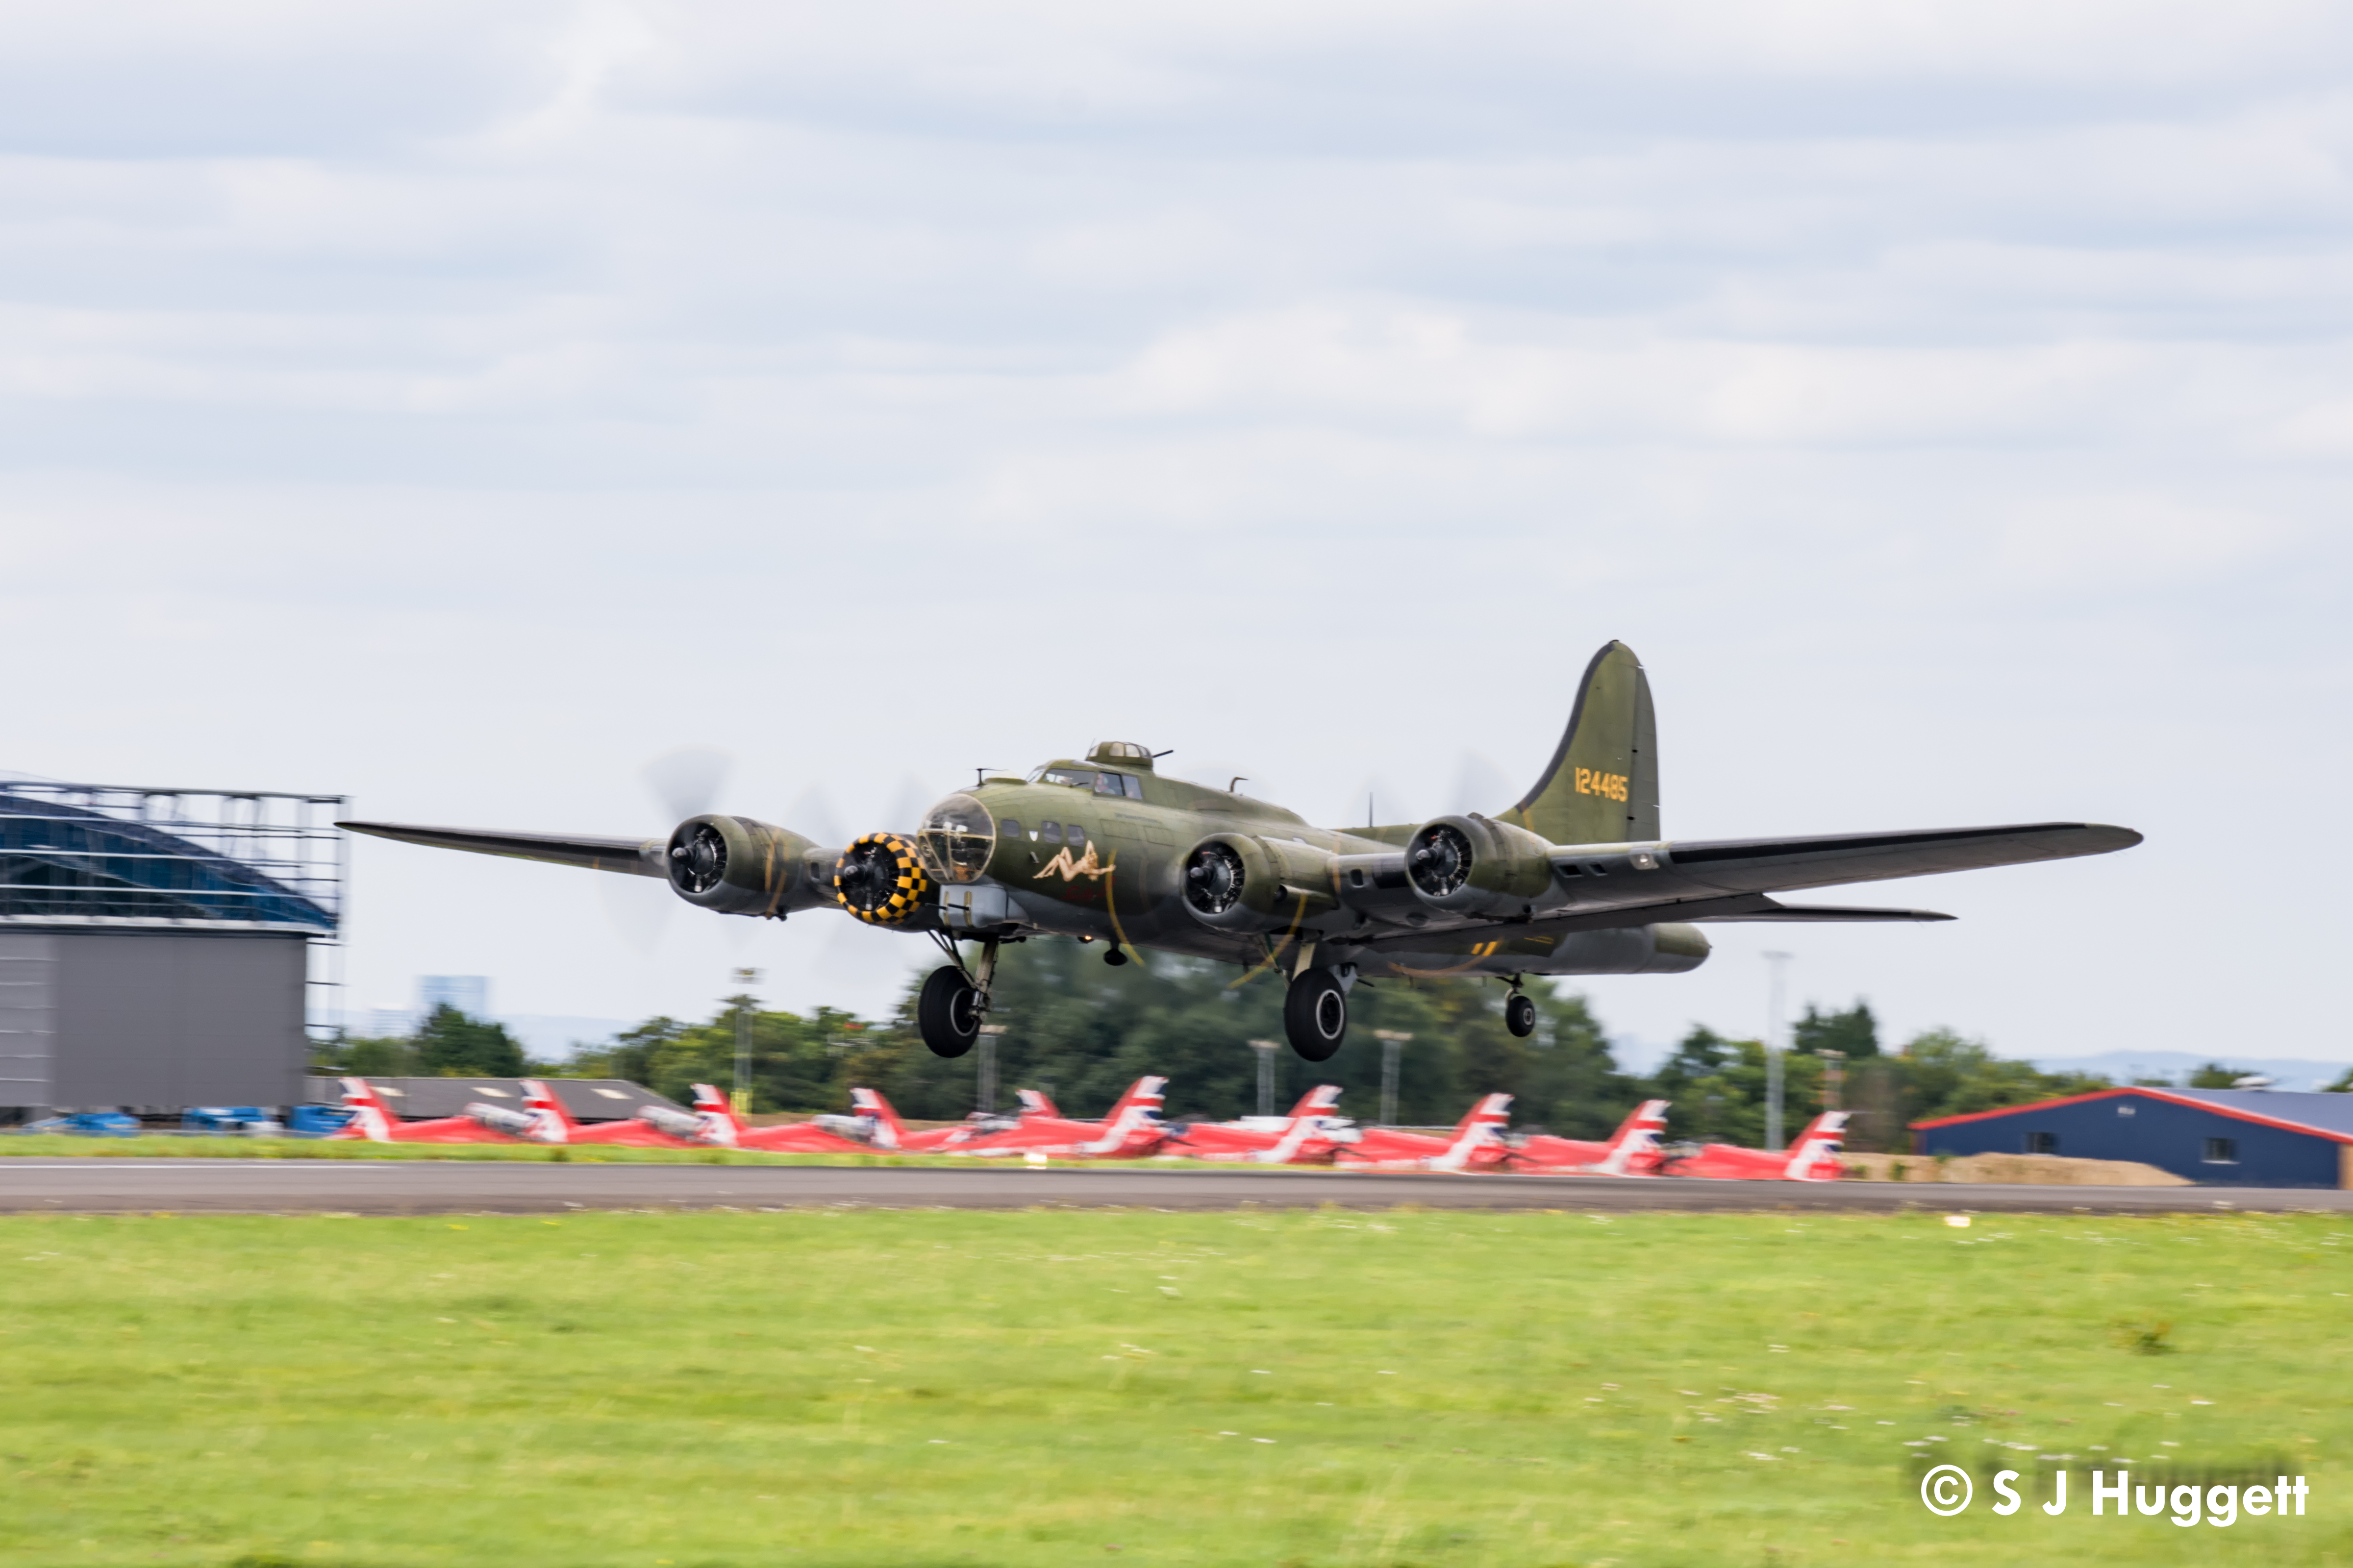
M 555 1213 L 565 1208 L 2353 1211 L 2306 1187 L 1701 1182 L 1136 1166 L 584 1166 L 416 1159 L 0 1159 L 0 1213 Z

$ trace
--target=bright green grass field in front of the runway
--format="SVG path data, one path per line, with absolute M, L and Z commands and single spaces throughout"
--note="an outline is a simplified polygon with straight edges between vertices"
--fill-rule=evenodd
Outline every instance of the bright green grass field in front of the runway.
M 2353 1556 L 2341 1218 L 0 1232 L 9 1566 Z M 2311 1512 L 1934 1519 L 1915 1446 L 2068 1453 L 2075 1488 L 2297 1455 Z

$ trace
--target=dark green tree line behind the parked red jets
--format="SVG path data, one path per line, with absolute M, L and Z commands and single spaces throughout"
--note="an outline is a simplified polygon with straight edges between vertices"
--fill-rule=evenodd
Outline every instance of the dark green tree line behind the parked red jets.
M 814 1013 L 760 1009 L 729 997 L 701 1023 L 652 1018 L 612 1041 L 576 1046 L 558 1067 L 567 1077 L 614 1077 L 685 1103 L 696 1081 L 734 1084 L 736 1027 L 748 1032 L 755 1112 L 845 1110 L 849 1088 L 889 1095 L 901 1117 L 953 1121 L 974 1110 L 979 1053 L 932 1056 L 915 1034 L 913 978 L 887 1018 L 859 1018 L 821 1006 Z M 1504 987 L 1494 983 L 1360 980 L 1351 994 L 1348 1044 L 1329 1063 L 1304 1063 L 1275 1048 L 1275 1110 L 1313 1084 L 1339 1084 L 1341 1110 L 1379 1117 L 1384 1041 L 1398 1044 L 1398 1121 L 1445 1126 L 1480 1093 L 1513 1095 L 1513 1121 L 1569 1138 L 1600 1138 L 1645 1098 L 1671 1100 L 1668 1138 L 1758 1147 L 1765 1140 L 1765 1044 L 1694 1025 L 1649 1074 L 1619 1067 L 1586 997 L 1553 980 L 1532 980 L 1537 1032 L 1515 1039 L 1504 1027 Z M 998 1107 L 1012 1088 L 1042 1088 L 1066 1112 L 1096 1117 L 1127 1084 L 1158 1072 L 1169 1079 L 1174 1121 L 1226 1119 L 1259 1107 L 1259 1051 L 1252 1039 L 1282 1039 L 1282 976 L 1169 954 L 1111 969 L 1099 947 L 1016 943 L 1002 950 L 995 985 Z M 322 1070 L 367 1077 L 520 1077 L 522 1046 L 496 1023 L 435 1009 L 409 1037 L 344 1039 L 320 1051 Z M 1925 1030 L 1882 1048 L 1866 1001 L 1840 1011 L 1807 1006 L 1791 1030 L 1784 1060 L 1784 1128 L 1795 1133 L 1826 1105 L 1852 1112 L 1847 1145 L 1906 1150 L 1906 1126 L 2054 1095 L 2108 1088 L 2092 1074 L 2040 1072 L 2000 1060 L 1984 1041 L 1953 1030 Z M 2193 1086 L 2228 1086 L 2235 1070 L 2207 1065 Z

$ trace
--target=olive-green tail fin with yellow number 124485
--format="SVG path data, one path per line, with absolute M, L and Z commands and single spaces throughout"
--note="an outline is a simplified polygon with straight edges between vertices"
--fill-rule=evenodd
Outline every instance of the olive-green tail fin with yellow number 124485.
M 1537 788 L 1499 820 L 1553 844 L 1659 837 L 1659 717 L 1649 677 L 1624 642 L 1607 642 L 1577 684 L 1577 708 Z

